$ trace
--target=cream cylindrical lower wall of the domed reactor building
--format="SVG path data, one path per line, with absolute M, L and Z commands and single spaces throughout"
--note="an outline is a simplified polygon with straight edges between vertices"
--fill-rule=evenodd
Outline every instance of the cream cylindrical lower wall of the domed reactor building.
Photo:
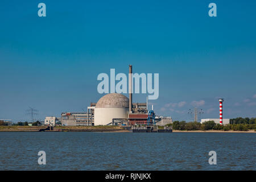
M 114 118 L 128 118 L 129 108 L 95 108 L 94 126 L 108 125 Z

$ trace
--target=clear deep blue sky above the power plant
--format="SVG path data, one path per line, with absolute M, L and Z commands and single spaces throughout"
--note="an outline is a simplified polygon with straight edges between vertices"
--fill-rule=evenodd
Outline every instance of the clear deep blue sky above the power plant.
M 47 16 L 38 16 L 38 3 Z M 208 5 L 217 5 L 209 17 Z M 97 75 L 159 73 L 156 114 L 256 117 L 256 1 L 1 1 L 0 118 L 86 110 Z M 146 101 L 135 94 L 134 102 Z

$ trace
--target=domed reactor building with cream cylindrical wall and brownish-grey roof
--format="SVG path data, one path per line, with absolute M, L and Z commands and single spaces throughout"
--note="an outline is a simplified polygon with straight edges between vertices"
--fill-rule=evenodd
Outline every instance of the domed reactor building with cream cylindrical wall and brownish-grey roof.
M 109 125 L 113 119 L 127 119 L 129 99 L 119 93 L 110 93 L 98 100 L 94 109 L 94 125 Z

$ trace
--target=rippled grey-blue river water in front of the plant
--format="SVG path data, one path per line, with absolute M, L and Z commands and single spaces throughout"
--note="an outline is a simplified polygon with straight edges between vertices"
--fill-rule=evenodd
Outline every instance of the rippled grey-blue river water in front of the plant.
M 0 170 L 256 170 L 255 141 L 255 133 L 8 132 Z

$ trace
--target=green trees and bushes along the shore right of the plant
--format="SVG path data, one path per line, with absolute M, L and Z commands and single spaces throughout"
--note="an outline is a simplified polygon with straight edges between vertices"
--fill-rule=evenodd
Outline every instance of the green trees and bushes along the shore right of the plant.
M 214 121 L 206 121 L 204 123 L 200 122 L 185 122 L 185 121 L 174 121 L 167 126 L 172 126 L 174 130 L 234 130 L 234 131 L 256 131 L 256 118 L 235 118 L 230 119 L 228 125 L 220 125 Z

